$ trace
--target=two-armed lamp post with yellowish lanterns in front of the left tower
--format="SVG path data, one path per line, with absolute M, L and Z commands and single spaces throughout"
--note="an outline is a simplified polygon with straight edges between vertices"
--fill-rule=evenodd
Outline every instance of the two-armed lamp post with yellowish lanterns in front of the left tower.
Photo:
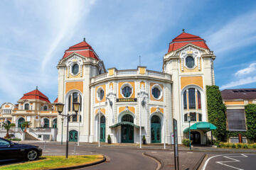
M 67 115 L 61 114 L 63 112 L 63 108 L 64 108 L 64 104 L 63 103 L 56 103 L 55 105 L 57 106 L 57 111 L 58 111 L 59 115 L 67 118 L 67 140 L 66 140 L 65 157 L 66 157 L 66 159 L 68 159 L 68 123 L 69 123 L 68 122 L 68 118 L 70 118 L 73 115 L 78 115 L 78 109 L 79 109 L 80 103 L 73 102 L 73 106 L 74 106 L 74 109 L 75 109 L 75 114 L 68 114 L 67 113 Z

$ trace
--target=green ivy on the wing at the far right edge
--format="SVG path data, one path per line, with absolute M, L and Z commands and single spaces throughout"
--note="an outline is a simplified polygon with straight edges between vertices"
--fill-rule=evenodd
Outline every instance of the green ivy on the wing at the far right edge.
M 247 104 L 245 106 L 246 124 L 247 124 L 247 138 L 256 142 L 256 105 Z

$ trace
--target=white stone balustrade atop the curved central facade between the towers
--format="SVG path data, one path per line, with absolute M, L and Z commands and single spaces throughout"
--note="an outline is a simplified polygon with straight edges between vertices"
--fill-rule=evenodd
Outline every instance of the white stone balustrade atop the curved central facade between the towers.
M 148 78 L 148 79 L 161 79 L 164 81 L 171 81 L 171 74 L 163 72 L 156 72 L 146 69 L 146 67 L 139 66 L 137 69 L 123 69 L 117 70 L 116 68 L 108 69 L 109 72 L 92 77 L 91 83 L 104 81 L 105 79 L 122 79 L 122 78 Z

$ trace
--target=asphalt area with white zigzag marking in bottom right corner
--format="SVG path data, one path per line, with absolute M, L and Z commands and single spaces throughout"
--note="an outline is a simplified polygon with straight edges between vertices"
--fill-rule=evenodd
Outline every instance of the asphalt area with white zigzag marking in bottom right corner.
M 255 170 L 256 154 L 209 154 L 202 170 Z

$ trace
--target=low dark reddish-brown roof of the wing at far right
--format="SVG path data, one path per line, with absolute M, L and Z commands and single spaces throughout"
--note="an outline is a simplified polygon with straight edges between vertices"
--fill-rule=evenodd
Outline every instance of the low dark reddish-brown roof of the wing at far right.
M 225 89 L 221 91 L 224 100 L 228 99 L 255 99 L 256 89 Z

